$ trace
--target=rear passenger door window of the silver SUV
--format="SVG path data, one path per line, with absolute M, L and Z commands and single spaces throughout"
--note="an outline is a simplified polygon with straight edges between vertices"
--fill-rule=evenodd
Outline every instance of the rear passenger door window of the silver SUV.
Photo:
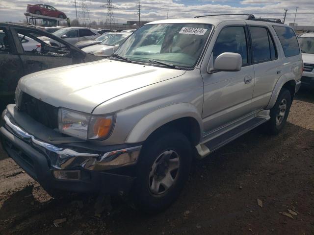
M 253 61 L 261 63 L 277 59 L 277 51 L 267 28 L 250 26 L 253 46 Z

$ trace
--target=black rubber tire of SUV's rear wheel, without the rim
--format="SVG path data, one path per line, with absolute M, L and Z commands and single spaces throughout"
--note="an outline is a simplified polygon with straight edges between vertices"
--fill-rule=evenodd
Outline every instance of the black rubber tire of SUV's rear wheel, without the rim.
M 280 105 L 286 100 L 286 111 L 282 116 L 281 121 L 278 121 L 278 115 L 280 113 Z M 266 131 L 268 134 L 277 135 L 284 128 L 289 111 L 291 107 L 291 94 L 286 88 L 282 88 L 274 107 L 270 109 L 270 120 L 265 123 Z

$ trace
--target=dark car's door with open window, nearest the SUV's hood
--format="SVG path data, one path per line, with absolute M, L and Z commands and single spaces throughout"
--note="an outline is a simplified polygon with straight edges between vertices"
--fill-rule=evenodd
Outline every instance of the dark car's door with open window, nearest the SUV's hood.
M 20 38 L 16 37 L 16 44 L 19 45 L 25 74 L 74 63 L 71 48 L 55 39 L 49 38 L 47 33 L 24 28 L 15 28 L 14 33 L 20 36 Z M 36 41 L 36 47 L 26 47 L 26 44 L 21 43 L 21 36 L 22 39 L 26 36 Z M 37 37 L 43 37 L 44 41 Z

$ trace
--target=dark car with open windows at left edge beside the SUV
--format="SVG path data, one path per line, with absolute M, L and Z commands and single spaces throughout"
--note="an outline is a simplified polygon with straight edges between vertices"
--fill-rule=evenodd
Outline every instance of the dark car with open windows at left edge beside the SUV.
M 43 30 L 0 24 L 0 111 L 13 102 L 15 88 L 22 76 L 99 59 Z

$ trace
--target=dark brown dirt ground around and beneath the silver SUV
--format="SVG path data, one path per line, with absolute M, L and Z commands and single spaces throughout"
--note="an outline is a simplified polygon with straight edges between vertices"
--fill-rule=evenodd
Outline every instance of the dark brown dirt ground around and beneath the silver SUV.
M 0 149 L 0 235 L 314 234 L 314 92 L 297 94 L 280 135 L 253 130 L 196 161 L 167 211 L 108 199 L 52 199 Z

